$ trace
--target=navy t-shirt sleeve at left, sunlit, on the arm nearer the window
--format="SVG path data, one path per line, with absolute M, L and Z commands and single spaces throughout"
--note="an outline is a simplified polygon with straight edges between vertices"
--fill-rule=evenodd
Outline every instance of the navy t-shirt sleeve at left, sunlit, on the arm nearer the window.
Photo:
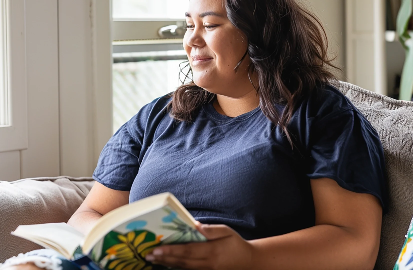
M 143 132 L 140 114 L 125 123 L 104 146 L 93 179 L 111 189 L 130 191 L 139 170 Z

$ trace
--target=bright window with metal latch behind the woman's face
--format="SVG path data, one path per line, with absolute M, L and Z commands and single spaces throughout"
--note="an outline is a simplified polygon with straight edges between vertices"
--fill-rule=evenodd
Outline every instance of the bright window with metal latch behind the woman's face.
M 113 132 L 181 84 L 187 7 L 188 0 L 113 0 Z

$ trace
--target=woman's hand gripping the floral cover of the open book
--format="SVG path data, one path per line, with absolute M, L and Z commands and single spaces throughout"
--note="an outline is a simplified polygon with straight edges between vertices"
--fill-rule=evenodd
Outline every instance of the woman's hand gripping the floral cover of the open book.
M 160 246 L 146 256 L 147 261 L 178 269 L 253 269 L 252 245 L 226 225 L 198 223 L 197 229 L 209 240 Z

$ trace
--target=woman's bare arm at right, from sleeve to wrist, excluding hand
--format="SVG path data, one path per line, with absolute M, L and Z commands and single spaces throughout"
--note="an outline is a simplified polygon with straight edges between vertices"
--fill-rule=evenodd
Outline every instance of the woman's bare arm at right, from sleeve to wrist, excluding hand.
M 316 226 L 251 241 L 257 269 L 374 268 L 382 207 L 370 194 L 348 191 L 334 180 L 311 180 Z

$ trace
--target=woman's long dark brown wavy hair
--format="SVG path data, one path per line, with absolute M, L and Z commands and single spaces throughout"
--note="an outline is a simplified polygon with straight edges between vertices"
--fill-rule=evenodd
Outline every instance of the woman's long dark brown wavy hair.
M 254 87 L 261 110 L 282 128 L 293 148 L 287 125 L 294 109 L 317 85 L 336 80 L 331 68 L 339 69 L 328 58 L 323 26 L 296 0 L 225 0 L 225 7 L 231 23 L 247 37 L 249 72 L 258 75 L 259 85 Z M 189 64 L 186 68 L 185 78 L 191 78 Z M 192 79 L 184 82 L 172 94 L 168 108 L 176 120 L 190 122 L 197 109 L 215 95 Z M 281 114 L 275 104 L 285 105 Z

